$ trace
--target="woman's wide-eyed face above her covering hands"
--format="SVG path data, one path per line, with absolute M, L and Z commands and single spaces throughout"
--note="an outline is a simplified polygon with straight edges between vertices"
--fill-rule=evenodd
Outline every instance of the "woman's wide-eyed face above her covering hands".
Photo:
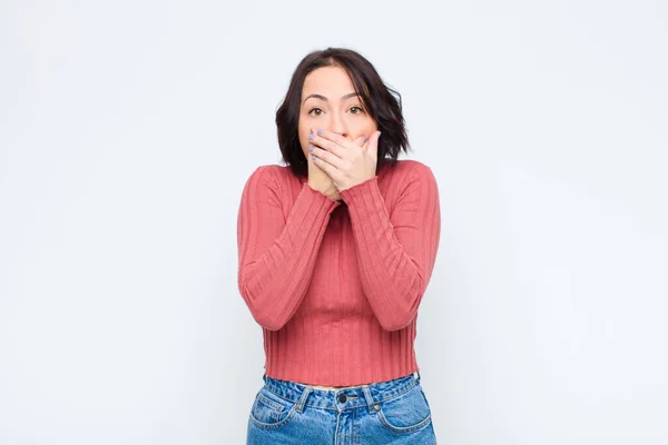
M 337 132 L 348 140 L 371 137 L 375 121 L 355 96 L 355 88 L 343 68 L 322 67 L 310 72 L 302 88 L 299 144 L 307 157 L 311 129 Z

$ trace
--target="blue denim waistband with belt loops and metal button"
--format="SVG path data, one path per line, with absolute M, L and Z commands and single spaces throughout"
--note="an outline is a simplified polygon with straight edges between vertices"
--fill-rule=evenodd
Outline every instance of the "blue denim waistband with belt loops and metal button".
M 399 397 L 418 385 L 420 383 L 420 372 L 416 370 L 393 380 L 332 389 L 316 388 L 292 380 L 281 380 L 266 374 L 263 379 L 268 390 L 295 403 L 299 412 L 303 412 L 307 406 L 334 411 L 366 406 L 373 413 L 379 409 L 377 404 L 381 402 Z

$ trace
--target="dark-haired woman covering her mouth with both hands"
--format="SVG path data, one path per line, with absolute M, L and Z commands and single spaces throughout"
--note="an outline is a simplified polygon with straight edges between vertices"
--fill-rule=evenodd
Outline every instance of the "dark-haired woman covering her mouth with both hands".
M 244 187 L 238 287 L 266 357 L 247 444 L 436 443 L 413 343 L 439 191 L 429 167 L 397 160 L 391 92 L 355 51 L 307 55 L 276 113 L 287 166 Z

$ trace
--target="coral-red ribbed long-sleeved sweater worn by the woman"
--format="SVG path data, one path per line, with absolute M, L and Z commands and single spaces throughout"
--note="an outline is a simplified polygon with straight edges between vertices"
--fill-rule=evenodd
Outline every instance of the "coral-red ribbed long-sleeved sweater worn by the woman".
M 419 370 L 418 308 L 441 229 L 435 178 L 400 160 L 340 196 L 278 165 L 244 187 L 238 288 L 263 327 L 271 377 L 352 386 Z

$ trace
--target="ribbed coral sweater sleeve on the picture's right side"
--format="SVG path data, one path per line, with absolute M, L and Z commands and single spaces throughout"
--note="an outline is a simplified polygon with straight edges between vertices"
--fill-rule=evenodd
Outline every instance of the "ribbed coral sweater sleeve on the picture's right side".
M 431 169 L 415 164 L 406 179 L 392 215 L 377 176 L 338 192 L 351 216 L 364 293 L 385 330 L 401 329 L 416 316 L 441 233 L 439 190 Z

